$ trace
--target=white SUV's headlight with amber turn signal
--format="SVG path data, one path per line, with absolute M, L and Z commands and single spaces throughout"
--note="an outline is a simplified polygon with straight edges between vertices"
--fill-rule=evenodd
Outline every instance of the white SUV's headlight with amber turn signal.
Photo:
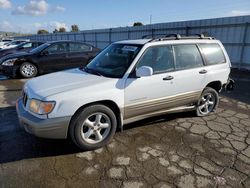
M 54 101 L 40 101 L 37 99 L 31 99 L 29 109 L 39 115 L 49 114 L 55 107 Z

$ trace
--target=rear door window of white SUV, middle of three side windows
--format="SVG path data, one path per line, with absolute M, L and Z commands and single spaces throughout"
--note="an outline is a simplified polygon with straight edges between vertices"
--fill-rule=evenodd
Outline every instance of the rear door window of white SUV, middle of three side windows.
M 174 45 L 176 69 L 190 69 L 203 66 L 200 52 L 195 44 Z

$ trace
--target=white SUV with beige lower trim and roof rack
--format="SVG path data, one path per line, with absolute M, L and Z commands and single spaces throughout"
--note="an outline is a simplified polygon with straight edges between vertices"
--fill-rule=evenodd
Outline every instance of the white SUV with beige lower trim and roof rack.
M 194 110 L 213 112 L 229 83 L 220 41 L 180 35 L 115 42 L 85 68 L 28 81 L 17 102 L 31 134 L 71 139 L 82 149 L 108 143 L 117 128 L 143 118 Z

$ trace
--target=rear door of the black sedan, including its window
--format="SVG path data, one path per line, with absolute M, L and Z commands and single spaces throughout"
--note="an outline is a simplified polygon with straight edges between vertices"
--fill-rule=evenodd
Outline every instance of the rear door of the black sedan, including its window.
M 91 57 L 92 47 L 83 43 L 69 43 L 68 68 L 85 66 Z

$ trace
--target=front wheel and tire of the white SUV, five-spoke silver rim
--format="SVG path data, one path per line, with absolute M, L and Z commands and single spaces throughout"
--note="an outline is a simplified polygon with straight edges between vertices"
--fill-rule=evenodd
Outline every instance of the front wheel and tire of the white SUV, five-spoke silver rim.
M 94 150 L 106 145 L 114 136 L 117 118 L 104 105 L 92 105 L 79 111 L 70 123 L 73 142 L 83 150 Z

